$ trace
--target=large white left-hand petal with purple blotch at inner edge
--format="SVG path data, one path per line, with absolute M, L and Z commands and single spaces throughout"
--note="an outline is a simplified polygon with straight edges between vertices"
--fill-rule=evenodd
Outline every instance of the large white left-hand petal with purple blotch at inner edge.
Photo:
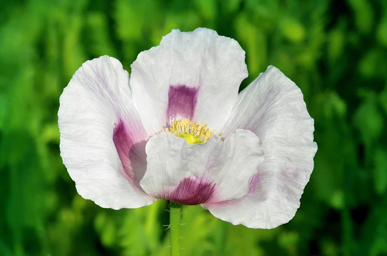
M 61 156 L 82 197 L 113 209 L 155 201 L 136 187 L 141 173 L 129 169 L 146 164 L 141 144 L 147 136 L 119 61 L 103 56 L 84 63 L 60 97 L 58 116 Z

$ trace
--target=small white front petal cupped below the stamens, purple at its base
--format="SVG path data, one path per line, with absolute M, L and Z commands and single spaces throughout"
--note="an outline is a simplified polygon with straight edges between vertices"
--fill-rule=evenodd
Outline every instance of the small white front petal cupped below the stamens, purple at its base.
M 144 191 L 187 205 L 244 196 L 263 160 L 258 137 L 242 129 L 224 141 L 212 136 L 199 144 L 162 132 L 149 139 L 145 150 Z

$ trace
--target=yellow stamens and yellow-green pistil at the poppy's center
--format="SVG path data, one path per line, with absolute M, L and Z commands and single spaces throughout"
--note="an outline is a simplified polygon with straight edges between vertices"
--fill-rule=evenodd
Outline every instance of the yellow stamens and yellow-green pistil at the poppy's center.
M 189 144 L 205 143 L 208 139 L 215 134 L 215 130 L 207 128 L 207 124 L 203 126 L 203 123 L 196 124 L 197 122 L 191 122 L 189 118 L 180 119 L 178 121 L 171 121 L 171 128 L 162 129 L 175 134 L 176 137 L 184 138 Z M 221 136 L 222 133 L 217 134 Z

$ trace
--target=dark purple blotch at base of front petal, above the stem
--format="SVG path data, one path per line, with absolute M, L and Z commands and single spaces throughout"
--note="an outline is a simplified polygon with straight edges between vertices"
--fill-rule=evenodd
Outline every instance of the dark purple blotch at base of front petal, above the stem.
M 184 178 L 173 192 L 167 192 L 159 198 L 185 205 L 208 202 L 215 190 L 215 184 L 206 183 L 196 178 Z

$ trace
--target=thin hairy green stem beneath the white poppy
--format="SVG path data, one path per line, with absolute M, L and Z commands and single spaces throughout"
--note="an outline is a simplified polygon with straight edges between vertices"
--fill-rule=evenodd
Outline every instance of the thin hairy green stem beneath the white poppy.
M 170 202 L 169 211 L 171 256 L 180 256 L 181 205 L 174 202 Z

